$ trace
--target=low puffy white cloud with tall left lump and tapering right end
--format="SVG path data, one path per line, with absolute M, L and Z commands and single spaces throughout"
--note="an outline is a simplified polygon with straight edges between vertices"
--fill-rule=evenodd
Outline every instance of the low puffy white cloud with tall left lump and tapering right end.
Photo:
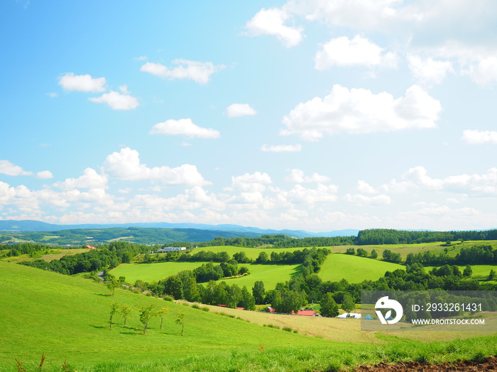
M 143 179 L 162 181 L 170 185 L 203 186 L 210 184 L 205 181 L 195 165 L 183 164 L 180 167 L 148 168 L 141 164 L 138 151 L 129 147 L 113 152 L 104 162 L 104 169 L 118 179 L 138 181 Z

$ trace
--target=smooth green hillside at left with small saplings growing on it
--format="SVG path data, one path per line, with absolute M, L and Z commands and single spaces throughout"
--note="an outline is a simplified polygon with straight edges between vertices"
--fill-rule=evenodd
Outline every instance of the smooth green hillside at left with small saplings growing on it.
M 65 359 L 73 363 L 136 363 L 189 353 L 257 351 L 261 344 L 266 349 L 329 344 L 129 291 L 118 290 L 111 297 L 105 286 L 91 281 L 4 262 L 0 262 L 0 291 L 0 365 L 14 365 L 14 359 L 39 359 L 42 353 L 48 361 L 60 364 Z M 135 309 L 126 327 L 116 315 L 116 324 L 109 329 L 113 302 Z M 158 329 L 160 320 L 154 318 L 148 334 L 141 334 L 138 308 L 145 305 L 169 307 L 163 330 Z M 183 337 L 175 324 L 177 312 L 186 314 Z

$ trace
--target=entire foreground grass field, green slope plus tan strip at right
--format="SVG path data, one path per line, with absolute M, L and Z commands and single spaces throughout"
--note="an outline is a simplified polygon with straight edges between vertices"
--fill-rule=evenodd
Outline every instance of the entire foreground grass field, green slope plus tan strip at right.
M 398 335 L 361 332 L 356 320 L 271 315 L 180 303 L 116 291 L 81 278 L 0 262 L 0 371 L 61 371 L 67 360 L 79 372 L 138 371 L 330 371 L 380 361 L 428 362 L 497 354 L 497 337 L 424 343 Z M 119 315 L 109 329 L 109 305 L 130 305 L 128 325 Z M 169 307 L 142 334 L 138 308 Z M 214 313 L 233 312 L 234 317 Z M 185 335 L 175 324 L 185 313 Z M 237 318 L 238 317 L 238 318 Z M 246 321 L 246 320 L 249 320 Z M 262 327 L 293 327 L 299 333 Z M 316 337 L 312 337 L 312 336 Z M 334 341 L 337 340 L 337 341 Z M 67 369 L 66 369 L 67 371 Z

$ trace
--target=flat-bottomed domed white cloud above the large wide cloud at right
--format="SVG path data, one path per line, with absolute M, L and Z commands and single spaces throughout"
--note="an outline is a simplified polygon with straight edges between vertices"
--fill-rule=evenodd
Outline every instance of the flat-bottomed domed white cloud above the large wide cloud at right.
M 383 53 L 383 50 L 361 35 L 356 35 L 352 40 L 345 36 L 334 38 L 322 45 L 322 49 L 316 53 L 315 68 L 324 70 L 333 66 L 395 67 L 395 53 Z

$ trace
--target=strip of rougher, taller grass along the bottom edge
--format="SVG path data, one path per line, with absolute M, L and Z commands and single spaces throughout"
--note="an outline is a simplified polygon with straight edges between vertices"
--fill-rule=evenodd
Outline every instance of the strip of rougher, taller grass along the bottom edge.
M 266 349 L 263 344 L 257 349 L 233 349 L 208 356 L 190 355 L 172 359 L 165 356 L 144 362 L 109 361 L 97 363 L 70 363 L 69 371 L 79 372 L 266 372 L 266 371 L 351 371 L 359 365 L 377 364 L 381 361 L 420 361 L 422 363 L 442 363 L 461 359 L 482 359 L 497 354 L 497 337 L 454 340 L 452 342 L 398 342 L 386 338 L 387 345 L 364 347 L 337 344 L 331 348 L 283 347 Z M 50 356 L 47 356 L 47 362 Z M 28 371 L 38 370 L 39 358 L 23 363 Z M 72 369 L 74 368 L 74 369 Z M 45 372 L 61 371 L 62 368 L 50 365 Z M 11 366 L 0 366 L 1 372 L 16 371 L 15 362 Z

